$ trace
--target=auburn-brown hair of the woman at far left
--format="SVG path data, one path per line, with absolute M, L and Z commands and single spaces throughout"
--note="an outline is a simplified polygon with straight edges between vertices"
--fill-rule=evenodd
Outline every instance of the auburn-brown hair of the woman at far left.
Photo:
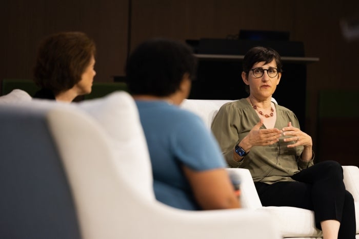
M 54 95 L 71 89 L 96 54 L 95 43 L 83 32 L 59 32 L 39 44 L 34 82 Z

